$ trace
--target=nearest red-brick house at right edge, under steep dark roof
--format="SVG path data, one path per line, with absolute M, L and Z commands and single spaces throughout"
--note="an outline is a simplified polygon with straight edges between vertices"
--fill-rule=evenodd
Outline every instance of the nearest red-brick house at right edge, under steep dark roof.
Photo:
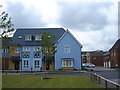
M 111 67 L 120 66 L 120 39 L 118 39 L 109 50 Z

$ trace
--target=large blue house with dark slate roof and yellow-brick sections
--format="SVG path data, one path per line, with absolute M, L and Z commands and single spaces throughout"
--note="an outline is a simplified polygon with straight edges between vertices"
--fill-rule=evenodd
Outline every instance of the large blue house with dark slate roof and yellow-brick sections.
M 55 36 L 57 52 L 44 61 L 41 52 L 41 34 L 49 32 Z M 22 28 L 12 37 L 9 69 L 40 71 L 55 69 L 81 69 L 82 45 L 69 30 L 63 28 Z M 45 67 L 46 63 L 46 67 Z

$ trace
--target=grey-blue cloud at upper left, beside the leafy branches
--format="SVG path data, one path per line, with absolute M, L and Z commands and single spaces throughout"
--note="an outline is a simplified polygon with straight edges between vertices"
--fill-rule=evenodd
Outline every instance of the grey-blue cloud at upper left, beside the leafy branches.
M 30 6 L 26 8 L 23 2 L 6 2 L 6 12 L 12 18 L 16 28 L 21 27 L 44 27 L 46 22 L 42 20 L 42 15 Z M 4 7 L 4 6 L 3 6 Z

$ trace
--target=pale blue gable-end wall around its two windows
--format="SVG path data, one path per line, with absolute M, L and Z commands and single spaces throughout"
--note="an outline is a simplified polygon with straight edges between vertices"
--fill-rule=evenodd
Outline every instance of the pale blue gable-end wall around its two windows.
M 70 54 L 64 53 L 64 46 L 66 45 L 70 46 Z M 81 48 L 69 32 L 66 33 L 57 45 L 57 52 L 55 54 L 55 69 L 62 68 L 62 58 L 73 58 L 73 68 L 81 69 Z

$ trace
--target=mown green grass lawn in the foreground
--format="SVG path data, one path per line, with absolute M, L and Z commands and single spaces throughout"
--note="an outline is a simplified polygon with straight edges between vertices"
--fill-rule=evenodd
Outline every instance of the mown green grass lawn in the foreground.
M 90 77 L 72 75 L 4 75 L 3 88 L 103 88 Z

